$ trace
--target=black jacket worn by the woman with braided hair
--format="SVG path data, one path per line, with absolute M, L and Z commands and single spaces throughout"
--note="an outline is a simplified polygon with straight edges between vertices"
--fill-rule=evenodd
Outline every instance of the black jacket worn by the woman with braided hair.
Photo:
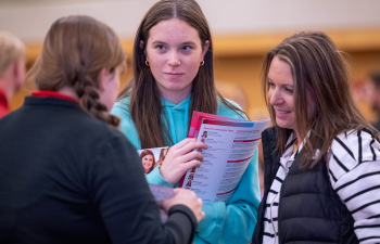
M 73 101 L 28 97 L 0 119 L 0 243 L 191 243 L 182 205 L 161 222 L 131 143 Z

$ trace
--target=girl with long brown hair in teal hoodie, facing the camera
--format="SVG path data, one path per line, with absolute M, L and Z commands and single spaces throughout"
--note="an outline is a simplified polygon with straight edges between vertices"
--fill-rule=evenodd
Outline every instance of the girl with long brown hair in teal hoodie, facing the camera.
M 162 0 L 145 14 L 134 44 L 134 78 L 112 114 L 137 149 L 170 146 L 165 162 L 147 176 L 174 187 L 199 166 L 206 149 L 186 139 L 193 111 L 244 119 L 244 113 L 215 89 L 213 41 L 207 21 L 193 0 Z M 192 160 L 193 158 L 198 158 Z M 248 243 L 259 203 L 257 153 L 226 204 L 203 207 L 195 243 Z

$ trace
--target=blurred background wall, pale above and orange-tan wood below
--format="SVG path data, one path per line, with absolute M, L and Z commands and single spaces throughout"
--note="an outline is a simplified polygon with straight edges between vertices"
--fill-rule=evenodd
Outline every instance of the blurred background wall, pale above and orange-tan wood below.
M 143 14 L 156 0 L 0 0 L 0 29 L 28 47 L 27 66 L 36 61 L 50 25 L 60 16 L 91 15 L 119 36 L 130 67 L 132 39 Z M 214 40 L 215 78 L 221 93 L 239 102 L 251 118 L 266 117 L 259 69 L 264 54 L 301 30 L 322 30 L 347 53 L 353 89 L 362 111 L 375 119 L 363 97 L 369 72 L 380 69 L 378 0 L 198 0 Z M 131 69 L 122 77 L 130 79 Z M 11 101 L 15 110 L 34 90 L 26 84 Z

